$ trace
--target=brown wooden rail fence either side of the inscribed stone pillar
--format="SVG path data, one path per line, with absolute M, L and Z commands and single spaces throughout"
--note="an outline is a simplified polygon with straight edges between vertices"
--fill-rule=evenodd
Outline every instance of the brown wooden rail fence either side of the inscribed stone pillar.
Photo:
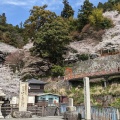
M 14 111 L 18 111 L 19 106 L 18 104 L 3 104 L 1 106 L 1 112 L 4 117 L 7 115 L 12 115 Z M 27 111 L 31 111 L 32 115 L 37 116 L 54 116 L 59 115 L 59 108 L 56 106 L 44 106 L 39 103 L 32 105 L 28 104 Z

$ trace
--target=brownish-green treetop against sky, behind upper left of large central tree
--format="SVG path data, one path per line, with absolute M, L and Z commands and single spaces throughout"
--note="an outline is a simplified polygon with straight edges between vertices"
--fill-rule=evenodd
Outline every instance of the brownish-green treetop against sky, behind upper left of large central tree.
M 33 9 L 30 10 L 30 17 L 24 23 L 26 35 L 28 35 L 29 38 L 34 37 L 36 31 L 43 28 L 45 23 L 50 23 L 56 18 L 56 14 L 45 10 L 46 8 L 47 5 L 43 5 L 42 7 L 33 6 Z

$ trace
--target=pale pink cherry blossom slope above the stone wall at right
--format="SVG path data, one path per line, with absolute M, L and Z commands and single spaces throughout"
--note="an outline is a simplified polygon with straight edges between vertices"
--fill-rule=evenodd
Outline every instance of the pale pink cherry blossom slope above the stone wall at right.
M 117 11 L 110 11 L 105 12 L 103 15 L 112 19 L 114 27 L 104 30 L 101 40 L 99 40 L 100 36 L 97 33 L 95 34 L 97 36 L 89 33 L 91 30 L 89 27 L 84 39 L 70 43 L 69 47 L 77 51 L 77 53 L 69 53 L 70 55 L 89 54 L 98 57 L 102 54 L 120 52 L 120 14 Z M 95 31 L 92 30 L 92 32 Z

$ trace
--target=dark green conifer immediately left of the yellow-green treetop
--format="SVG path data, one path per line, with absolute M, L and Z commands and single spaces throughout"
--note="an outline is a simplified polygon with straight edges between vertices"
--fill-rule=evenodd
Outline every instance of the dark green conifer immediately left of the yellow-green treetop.
M 78 29 L 81 30 L 87 23 L 89 23 L 89 15 L 93 10 L 93 4 L 89 0 L 85 0 L 81 9 L 78 11 Z

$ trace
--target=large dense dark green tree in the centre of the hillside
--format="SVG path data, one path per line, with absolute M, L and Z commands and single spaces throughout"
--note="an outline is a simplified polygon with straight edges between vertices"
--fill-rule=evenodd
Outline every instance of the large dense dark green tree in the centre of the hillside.
M 49 59 L 53 64 L 61 65 L 66 45 L 69 44 L 69 27 L 61 17 L 51 23 L 45 23 L 44 27 L 36 34 L 33 53 L 44 59 Z

